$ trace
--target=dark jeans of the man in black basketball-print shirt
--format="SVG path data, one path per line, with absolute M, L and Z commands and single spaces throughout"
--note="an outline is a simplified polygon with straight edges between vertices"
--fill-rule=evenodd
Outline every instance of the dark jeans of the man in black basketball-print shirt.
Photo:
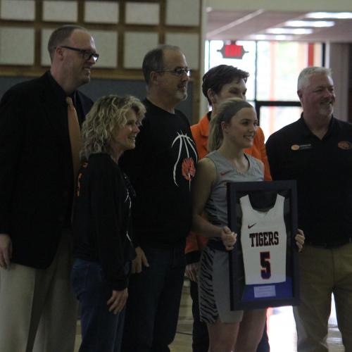
M 122 351 L 169 352 L 180 309 L 184 246 L 142 249 L 149 268 L 130 277 Z

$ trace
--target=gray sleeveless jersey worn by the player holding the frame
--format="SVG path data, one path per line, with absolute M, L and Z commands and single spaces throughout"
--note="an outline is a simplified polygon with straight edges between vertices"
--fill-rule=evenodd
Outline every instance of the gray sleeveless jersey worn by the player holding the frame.
M 249 169 L 238 172 L 234 165 L 224 158 L 218 151 L 208 153 L 206 158 L 213 161 L 216 169 L 216 179 L 210 197 L 206 202 L 204 212 L 213 225 L 227 226 L 227 182 L 252 182 L 263 181 L 264 172 L 258 159 L 248 154 L 244 154 L 249 161 Z M 218 239 L 218 238 L 217 238 Z M 219 239 L 220 240 L 220 239 Z

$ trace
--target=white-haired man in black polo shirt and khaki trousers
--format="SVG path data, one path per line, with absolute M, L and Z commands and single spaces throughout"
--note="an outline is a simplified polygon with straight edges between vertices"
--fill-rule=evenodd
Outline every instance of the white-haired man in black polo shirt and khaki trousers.
M 333 117 L 334 83 L 327 68 L 298 77 L 301 118 L 270 136 L 273 180 L 296 180 L 301 304 L 294 308 L 298 352 L 328 351 L 327 321 L 334 294 L 346 351 L 352 351 L 352 125 Z

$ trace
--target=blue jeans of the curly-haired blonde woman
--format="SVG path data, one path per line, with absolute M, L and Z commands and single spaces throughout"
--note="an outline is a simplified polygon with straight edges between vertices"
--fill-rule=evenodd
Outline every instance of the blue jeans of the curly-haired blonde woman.
M 76 259 L 71 279 L 81 305 L 82 344 L 79 351 L 120 352 L 125 308 L 117 315 L 108 311 L 106 302 L 111 298 L 112 289 L 101 265 Z

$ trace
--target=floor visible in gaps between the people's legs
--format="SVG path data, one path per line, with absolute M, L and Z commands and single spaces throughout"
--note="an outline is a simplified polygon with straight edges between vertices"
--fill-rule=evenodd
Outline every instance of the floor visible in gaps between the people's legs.
M 170 346 L 171 352 L 191 352 L 191 297 L 189 296 L 188 282 L 185 282 L 180 318 L 177 326 L 175 341 Z M 291 307 L 270 308 L 268 310 L 268 335 L 271 352 L 296 352 L 296 327 Z M 76 348 L 80 345 L 80 326 L 77 325 Z M 337 329 L 334 302 L 332 315 L 329 319 L 328 335 L 329 352 L 343 352 L 341 334 Z

